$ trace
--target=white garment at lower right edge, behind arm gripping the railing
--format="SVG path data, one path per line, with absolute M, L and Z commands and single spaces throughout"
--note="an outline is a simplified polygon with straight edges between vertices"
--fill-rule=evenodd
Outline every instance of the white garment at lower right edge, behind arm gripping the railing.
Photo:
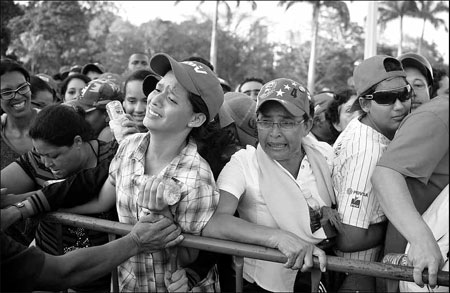
M 425 223 L 430 227 L 433 232 L 434 238 L 437 240 L 439 248 L 441 249 L 442 257 L 444 258 L 445 265 L 442 268 L 443 271 L 449 271 L 448 264 L 448 220 L 449 220 L 449 204 L 448 204 L 448 185 L 441 191 L 438 197 L 423 213 L 422 218 Z M 406 246 L 405 253 L 408 253 L 410 244 Z M 413 282 L 400 281 L 400 292 L 423 292 L 426 287 L 420 288 Z M 448 287 L 439 286 L 435 289 L 429 289 L 429 292 L 449 292 Z

